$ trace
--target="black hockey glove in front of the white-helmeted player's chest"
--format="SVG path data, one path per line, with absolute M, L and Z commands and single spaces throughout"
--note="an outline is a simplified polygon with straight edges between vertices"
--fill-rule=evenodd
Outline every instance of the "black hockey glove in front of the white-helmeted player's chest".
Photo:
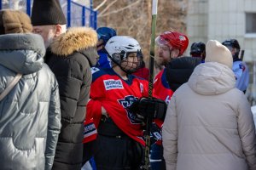
M 150 119 L 158 118 L 164 120 L 166 116 L 167 105 L 166 102 L 162 99 L 142 98 L 133 102 L 133 104 L 127 109 L 136 114 L 143 121 L 147 117 Z

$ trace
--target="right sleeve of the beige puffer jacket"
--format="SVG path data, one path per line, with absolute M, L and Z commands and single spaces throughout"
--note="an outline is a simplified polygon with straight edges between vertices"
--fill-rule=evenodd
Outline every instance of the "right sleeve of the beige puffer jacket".
M 247 165 L 250 170 L 253 170 L 256 169 L 256 136 L 253 113 L 246 96 L 241 94 L 240 99 L 237 116 L 238 133 Z

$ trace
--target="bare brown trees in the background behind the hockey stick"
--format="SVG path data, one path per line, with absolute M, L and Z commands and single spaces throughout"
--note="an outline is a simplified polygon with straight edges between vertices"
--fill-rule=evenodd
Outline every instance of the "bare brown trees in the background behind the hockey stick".
M 94 4 L 98 6 L 102 1 L 94 0 Z M 148 65 L 152 1 L 112 0 L 108 2 L 98 9 L 100 13 L 98 26 L 109 26 L 115 29 L 118 35 L 136 38 L 143 49 L 144 60 Z M 187 4 L 188 0 L 159 1 L 156 35 L 171 30 L 186 33 L 184 8 L 188 8 Z

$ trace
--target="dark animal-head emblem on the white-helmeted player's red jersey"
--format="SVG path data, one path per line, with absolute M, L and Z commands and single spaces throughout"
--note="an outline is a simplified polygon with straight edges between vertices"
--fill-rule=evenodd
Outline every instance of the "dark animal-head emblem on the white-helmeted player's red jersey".
M 132 95 L 128 95 L 125 96 L 125 99 L 119 99 L 119 104 L 122 105 L 125 108 L 125 111 L 127 113 L 128 119 L 130 120 L 130 122 L 132 124 L 140 124 L 141 122 L 137 122 L 136 120 L 136 115 L 131 113 L 131 111 L 127 111 L 126 108 L 131 106 L 131 104 L 133 102 L 135 102 L 138 98 L 132 96 Z

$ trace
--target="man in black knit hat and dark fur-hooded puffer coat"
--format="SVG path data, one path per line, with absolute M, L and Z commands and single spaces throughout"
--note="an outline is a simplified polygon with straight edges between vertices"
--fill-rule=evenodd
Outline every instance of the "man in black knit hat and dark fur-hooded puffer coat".
M 53 169 L 80 170 L 84 119 L 90 96 L 90 67 L 96 65 L 98 58 L 97 34 L 89 27 L 73 27 L 66 31 L 66 23 L 59 0 L 34 0 L 33 30 L 42 37 L 46 35 L 44 60 L 60 85 L 62 127 Z M 39 27 L 46 30 L 38 31 Z

